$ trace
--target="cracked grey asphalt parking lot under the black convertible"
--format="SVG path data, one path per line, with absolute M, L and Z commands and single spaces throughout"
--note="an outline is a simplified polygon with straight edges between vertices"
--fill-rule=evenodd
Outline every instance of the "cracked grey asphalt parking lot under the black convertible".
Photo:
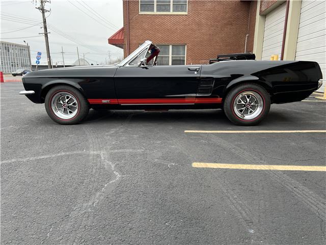
M 20 82 L 0 88 L 2 244 L 326 241 L 326 101 L 272 105 L 256 127 L 222 110 L 91 110 L 61 126 Z

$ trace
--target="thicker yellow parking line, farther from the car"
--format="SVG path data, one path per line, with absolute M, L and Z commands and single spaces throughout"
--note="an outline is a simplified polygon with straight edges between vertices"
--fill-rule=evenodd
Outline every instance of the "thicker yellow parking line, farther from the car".
M 252 170 L 291 170 L 291 171 L 326 171 L 326 166 L 298 166 L 298 165 L 255 165 L 255 164 L 226 164 L 193 162 L 193 167 L 229 168 Z

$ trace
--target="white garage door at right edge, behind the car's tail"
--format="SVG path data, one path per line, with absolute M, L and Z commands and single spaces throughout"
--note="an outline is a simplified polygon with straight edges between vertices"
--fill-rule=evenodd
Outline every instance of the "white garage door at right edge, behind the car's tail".
M 295 60 L 317 61 L 326 78 L 326 2 L 303 0 Z M 318 91 L 324 91 L 323 86 Z

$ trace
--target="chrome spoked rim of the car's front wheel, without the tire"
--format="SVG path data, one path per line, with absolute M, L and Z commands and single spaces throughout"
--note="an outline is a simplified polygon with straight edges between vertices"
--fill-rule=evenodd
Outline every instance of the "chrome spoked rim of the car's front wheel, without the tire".
M 71 119 L 78 112 L 78 100 L 69 92 L 58 92 L 52 96 L 51 109 L 61 119 Z

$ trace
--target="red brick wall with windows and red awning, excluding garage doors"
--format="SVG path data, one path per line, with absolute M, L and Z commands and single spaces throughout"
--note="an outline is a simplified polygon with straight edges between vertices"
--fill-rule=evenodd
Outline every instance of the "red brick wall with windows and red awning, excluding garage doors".
M 123 47 L 126 57 L 151 40 L 161 50 L 158 64 L 203 64 L 218 54 L 253 51 L 256 6 L 240 0 L 123 0 L 123 29 L 108 42 Z

